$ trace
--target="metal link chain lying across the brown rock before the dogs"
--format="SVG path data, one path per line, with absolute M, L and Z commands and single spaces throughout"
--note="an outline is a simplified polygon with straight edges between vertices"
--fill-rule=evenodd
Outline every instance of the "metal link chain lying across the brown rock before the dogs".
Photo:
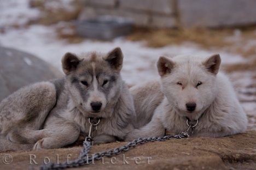
M 101 160 L 104 156 L 112 156 L 112 155 L 119 155 L 123 151 L 128 151 L 130 148 L 137 147 L 138 144 L 144 144 L 148 142 L 155 142 L 155 141 L 166 141 L 168 139 L 178 139 L 178 138 L 187 138 L 189 137 L 187 132 L 182 132 L 179 135 L 167 135 L 162 137 L 149 137 L 149 138 L 138 138 L 133 140 L 132 142 L 129 142 L 121 147 L 117 147 L 108 151 L 102 151 L 95 154 L 92 154 L 92 156 L 89 156 L 88 153 L 91 149 L 92 143 L 90 141 L 84 141 L 83 142 L 83 148 L 81 149 L 80 155 L 77 159 L 69 162 L 62 162 L 62 163 L 49 163 L 43 166 L 40 166 L 40 170 L 50 170 L 50 169 L 65 169 L 65 168 L 72 168 L 72 167 L 79 167 L 83 165 L 89 165 L 94 163 L 94 160 Z

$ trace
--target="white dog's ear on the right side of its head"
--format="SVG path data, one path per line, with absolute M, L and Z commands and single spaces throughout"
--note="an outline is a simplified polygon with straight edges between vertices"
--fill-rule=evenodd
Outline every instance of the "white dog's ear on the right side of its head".
M 213 54 L 211 57 L 207 58 L 205 62 L 203 62 L 203 65 L 205 65 L 208 71 L 217 75 L 221 62 L 222 59 L 220 59 L 219 54 Z

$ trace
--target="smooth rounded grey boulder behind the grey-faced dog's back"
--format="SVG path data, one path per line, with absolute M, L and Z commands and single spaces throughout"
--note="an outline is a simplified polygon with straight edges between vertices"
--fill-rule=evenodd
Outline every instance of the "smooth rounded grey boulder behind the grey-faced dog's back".
M 0 101 L 27 84 L 61 76 L 59 70 L 32 54 L 0 47 Z

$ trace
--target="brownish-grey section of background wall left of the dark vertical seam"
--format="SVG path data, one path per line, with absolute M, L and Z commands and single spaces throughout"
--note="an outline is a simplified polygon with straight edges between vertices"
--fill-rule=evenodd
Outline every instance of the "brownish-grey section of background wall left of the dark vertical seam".
M 142 27 L 176 27 L 176 0 L 85 0 L 86 5 L 79 20 L 93 19 L 101 15 L 110 15 L 132 19 L 135 25 Z

